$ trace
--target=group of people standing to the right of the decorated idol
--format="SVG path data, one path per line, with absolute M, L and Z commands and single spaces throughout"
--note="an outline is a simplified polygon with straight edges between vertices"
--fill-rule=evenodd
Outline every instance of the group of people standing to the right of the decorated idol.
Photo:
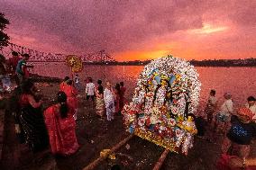
M 249 96 L 244 106 L 235 109 L 232 94 L 224 94 L 220 107 L 215 94 L 215 90 L 210 91 L 205 113 L 210 140 L 215 140 L 215 133 L 224 137 L 217 169 L 256 169 L 256 158 L 250 157 L 251 142 L 256 137 L 255 97 Z

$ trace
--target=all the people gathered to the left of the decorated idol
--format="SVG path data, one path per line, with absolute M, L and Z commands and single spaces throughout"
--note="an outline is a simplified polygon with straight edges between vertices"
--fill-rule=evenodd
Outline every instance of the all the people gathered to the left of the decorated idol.
M 50 144 L 54 155 L 69 156 L 75 153 L 79 146 L 76 137 L 76 120 L 78 113 L 78 92 L 81 90 L 78 75 L 74 78 L 66 76 L 59 85 L 59 93 L 55 103 L 42 109 L 43 101 L 37 92 L 28 71 L 28 54 L 13 51 L 13 57 L 8 60 L 0 56 L 0 79 L 3 91 L 5 79 L 8 76 L 16 83 L 11 96 L 11 112 L 15 119 L 15 132 L 20 143 L 26 143 L 33 152 L 47 148 Z M 11 81 L 10 81 L 11 82 Z M 105 89 L 101 80 L 97 85 L 91 77 L 87 78 L 86 99 L 91 100 L 96 108 L 100 120 L 113 121 L 115 114 L 120 114 L 124 103 L 126 88 L 123 82 L 114 88 L 109 81 L 105 82 Z

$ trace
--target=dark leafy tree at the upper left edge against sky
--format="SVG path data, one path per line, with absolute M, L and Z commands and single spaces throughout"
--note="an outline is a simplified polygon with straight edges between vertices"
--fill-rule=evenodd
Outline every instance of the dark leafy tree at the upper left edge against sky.
M 4 31 L 6 30 L 6 26 L 9 23 L 9 20 L 5 18 L 5 14 L 0 13 L 0 49 L 8 46 L 10 37 Z

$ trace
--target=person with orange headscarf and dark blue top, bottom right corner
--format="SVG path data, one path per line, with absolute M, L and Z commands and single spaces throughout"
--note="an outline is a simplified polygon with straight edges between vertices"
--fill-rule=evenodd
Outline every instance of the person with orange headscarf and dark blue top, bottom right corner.
M 248 108 L 239 109 L 237 115 L 233 115 L 231 118 L 231 128 L 228 130 L 222 146 L 224 154 L 217 162 L 217 169 L 256 169 L 256 164 L 251 164 L 253 161 L 249 158 L 251 140 L 255 134 L 256 128 L 255 123 L 252 122 L 252 112 Z M 242 164 L 239 165 L 239 163 Z

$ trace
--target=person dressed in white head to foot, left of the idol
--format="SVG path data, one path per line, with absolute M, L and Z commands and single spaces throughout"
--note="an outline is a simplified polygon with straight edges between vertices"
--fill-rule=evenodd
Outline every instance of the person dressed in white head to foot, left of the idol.
M 114 120 L 114 94 L 111 87 L 111 83 L 106 81 L 106 86 L 104 90 L 104 102 L 105 102 L 105 112 L 106 120 Z

